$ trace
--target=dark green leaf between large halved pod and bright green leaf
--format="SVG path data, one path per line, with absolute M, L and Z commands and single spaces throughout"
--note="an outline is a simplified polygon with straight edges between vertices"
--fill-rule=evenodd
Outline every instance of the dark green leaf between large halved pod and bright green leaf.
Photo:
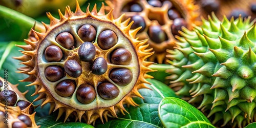
M 118 118 L 105 124 L 96 123 L 95 127 L 164 127 L 158 116 L 158 105 L 165 97 L 177 97 L 172 89 L 164 83 L 147 79 L 152 84 L 146 84 L 150 89 L 140 89 L 140 94 L 144 97 L 134 98 L 139 106 L 125 108 L 129 114 L 118 114 Z

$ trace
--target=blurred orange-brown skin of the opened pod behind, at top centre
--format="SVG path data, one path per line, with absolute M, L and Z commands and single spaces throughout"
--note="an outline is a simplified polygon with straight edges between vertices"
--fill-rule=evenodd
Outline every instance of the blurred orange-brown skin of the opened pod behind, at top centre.
M 124 12 L 122 11 L 123 7 L 131 2 L 138 3 L 142 7 L 141 12 Z M 199 25 L 200 22 L 196 20 L 199 16 L 197 5 L 194 5 L 192 0 L 170 0 L 173 3 L 173 6 L 181 13 L 182 18 L 185 19 L 187 28 L 191 29 L 192 24 Z M 170 27 L 173 25 L 173 20 L 168 18 L 168 5 L 163 4 L 162 7 L 153 7 L 146 0 L 137 0 L 137 1 L 123 1 L 123 0 L 113 0 L 106 1 L 108 4 L 108 10 L 115 8 L 114 17 L 119 17 L 121 14 L 125 13 L 125 18 L 132 17 L 134 15 L 140 15 L 145 20 L 145 28 L 142 28 L 143 31 L 139 32 L 136 37 L 140 39 L 150 38 L 147 31 L 151 26 L 160 25 L 161 30 L 166 34 L 166 39 L 159 40 L 160 42 L 154 42 L 152 39 L 148 40 L 150 44 L 149 48 L 153 48 L 155 51 L 154 55 L 149 57 L 148 60 L 154 61 L 157 63 L 166 63 L 166 49 L 173 49 L 175 46 L 176 38 L 172 34 Z M 152 19 L 153 18 L 153 19 Z M 159 33 L 159 32 L 158 32 Z

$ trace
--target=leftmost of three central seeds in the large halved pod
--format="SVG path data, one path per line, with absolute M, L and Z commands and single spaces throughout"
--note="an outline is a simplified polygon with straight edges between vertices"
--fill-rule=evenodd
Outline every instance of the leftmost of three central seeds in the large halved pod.
M 64 64 L 64 69 L 71 77 L 77 78 L 82 74 L 82 67 L 76 60 L 67 60 Z

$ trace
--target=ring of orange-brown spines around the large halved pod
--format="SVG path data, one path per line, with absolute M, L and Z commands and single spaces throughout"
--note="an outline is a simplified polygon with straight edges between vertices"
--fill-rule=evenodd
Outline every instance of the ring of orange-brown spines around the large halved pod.
M 146 49 L 148 47 L 148 45 L 145 45 L 147 40 L 138 40 L 138 38 L 135 38 L 135 35 L 137 34 L 137 32 L 139 31 L 140 28 L 131 30 L 130 28 L 131 28 L 133 22 L 131 22 L 129 24 L 130 19 L 124 20 L 124 22 L 122 22 L 123 15 L 121 15 L 117 19 L 114 19 L 113 14 L 112 14 L 113 9 L 108 14 L 105 14 L 105 9 L 104 9 L 103 3 L 102 3 L 102 7 L 100 8 L 100 10 L 98 12 L 97 12 L 96 5 L 94 6 L 94 8 L 91 12 L 89 11 L 89 6 L 87 8 L 87 12 L 83 12 L 80 9 L 78 2 L 77 2 L 75 13 L 73 13 L 71 11 L 70 7 L 68 6 L 68 7 L 66 7 L 66 11 L 65 11 L 64 15 L 59 11 L 60 19 L 53 17 L 50 13 L 47 13 L 47 16 L 50 18 L 50 25 L 42 23 L 46 28 L 46 32 L 45 33 L 44 32 L 36 32 L 35 30 L 31 29 L 31 31 L 29 33 L 29 39 L 25 39 L 25 42 L 28 45 L 18 46 L 18 47 L 24 49 L 24 51 L 21 51 L 24 55 L 20 56 L 20 57 L 16 57 L 16 59 L 23 61 L 20 63 L 25 65 L 25 67 L 22 67 L 19 69 L 20 73 L 25 73 L 25 74 L 29 75 L 28 78 L 26 78 L 22 81 L 31 81 L 32 83 L 30 83 L 28 86 L 34 86 L 34 85 L 36 86 L 36 91 L 33 95 L 39 94 L 39 96 L 34 101 L 37 101 L 39 99 L 44 99 L 44 102 L 41 105 L 50 103 L 51 104 L 50 113 L 54 112 L 56 110 L 59 110 L 57 120 L 60 118 L 62 113 L 66 112 L 65 121 L 68 119 L 68 117 L 71 113 L 77 115 L 78 118 L 76 118 L 76 120 L 79 119 L 79 121 L 81 122 L 81 118 L 83 117 L 89 124 L 94 122 L 97 118 L 100 118 L 101 121 L 103 122 L 102 116 L 105 118 L 106 121 L 108 121 L 108 119 L 106 117 L 108 112 L 111 112 L 111 114 L 113 116 L 117 117 L 116 112 L 115 112 L 116 108 L 118 108 L 122 113 L 123 113 L 123 111 L 127 112 L 123 108 L 123 103 L 131 104 L 133 106 L 138 105 L 133 101 L 132 96 L 138 96 L 138 97 L 143 98 L 140 95 L 140 93 L 138 92 L 138 89 L 147 88 L 144 85 L 144 83 L 148 83 L 146 81 L 146 78 L 152 78 L 150 75 L 146 74 L 147 72 L 152 71 L 150 68 L 147 68 L 148 66 L 150 66 L 152 64 L 152 62 L 145 61 L 145 59 L 147 57 L 151 56 L 154 52 L 150 52 L 152 49 Z M 120 30 L 123 32 L 124 35 L 126 35 L 127 37 L 129 37 L 131 39 L 134 47 L 136 48 L 137 55 L 139 58 L 138 61 L 140 63 L 140 75 L 138 77 L 138 80 L 136 82 L 136 86 L 134 87 L 134 89 L 129 94 L 127 94 L 116 105 L 110 106 L 109 108 L 95 108 L 94 110 L 88 110 L 88 111 L 84 112 L 81 110 L 76 110 L 76 109 L 70 108 L 69 106 L 66 106 L 64 104 L 61 104 L 61 102 L 55 100 L 51 96 L 51 94 L 49 94 L 49 92 L 47 92 L 46 88 L 44 86 L 42 86 L 42 84 L 41 84 L 40 77 L 39 77 L 40 74 L 37 74 L 36 55 L 37 55 L 38 45 L 40 45 L 40 41 L 53 28 L 58 27 L 61 24 L 65 24 L 65 22 L 69 19 L 77 19 L 77 18 L 90 17 L 90 16 L 94 17 L 96 19 L 104 20 L 104 22 L 114 23 L 118 28 L 120 28 Z

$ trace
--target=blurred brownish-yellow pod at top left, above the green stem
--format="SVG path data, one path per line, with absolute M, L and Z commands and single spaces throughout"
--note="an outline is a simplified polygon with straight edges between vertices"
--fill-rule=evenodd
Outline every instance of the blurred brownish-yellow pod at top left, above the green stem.
M 80 4 L 86 3 L 87 0 L 78 0 Z M 56 8 L 64 8 L 67 5 L 75 7 L 75 1 L 69 0 L 41 0 L 41 1 L 31 1 L 31 0 L 2 0 L 0 5 L 4 5 L 8 8 L 16 10 L 18 12 L 24 13 L 28 16 L 38 16 L 41 13 L 54 10 Z M 34 11 L 36 10 L 36 11 Z

